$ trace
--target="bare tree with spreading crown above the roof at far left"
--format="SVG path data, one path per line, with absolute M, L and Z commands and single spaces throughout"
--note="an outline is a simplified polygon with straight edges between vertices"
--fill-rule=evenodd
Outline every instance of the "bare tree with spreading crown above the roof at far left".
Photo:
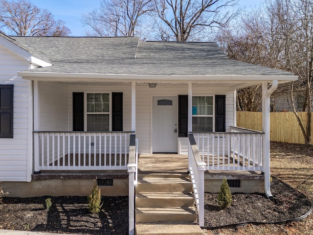
M 67 36 L 70 30 L 51 12 L 28 0 L 0 0 L 0 28 L 20 36 Z

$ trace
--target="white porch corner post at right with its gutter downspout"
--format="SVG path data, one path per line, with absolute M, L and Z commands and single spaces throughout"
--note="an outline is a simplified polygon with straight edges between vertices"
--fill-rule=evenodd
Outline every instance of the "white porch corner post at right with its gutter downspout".
M 268 89 L 268 83 L 262 83 L 262 131 L 264 133 L 263 139 L 263 169 L 264 169 L 264 189 L 267 197 L 272 199 L 270 192 L 270 126 L 269 126 L 269 112 L 270 112 L 270 95 L 276 90 L 278 80 L 273 80 L 272 85 Z

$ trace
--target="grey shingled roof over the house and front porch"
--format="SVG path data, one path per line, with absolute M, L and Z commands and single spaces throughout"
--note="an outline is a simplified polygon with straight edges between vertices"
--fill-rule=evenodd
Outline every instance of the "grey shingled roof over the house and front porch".
M 140 75 L 283 75 L 229 59 L 215 43 L 146 42 L 138 37 L 19 37 L 52 66 L 29 72 Z

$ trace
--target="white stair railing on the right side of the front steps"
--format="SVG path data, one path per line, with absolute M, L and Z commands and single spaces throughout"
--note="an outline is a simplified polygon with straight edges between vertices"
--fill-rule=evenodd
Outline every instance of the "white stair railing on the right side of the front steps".
M 206 164 L 201 161 L 193 134 L 188 134 L 188 168 L 197 204 L 199 226 L 204 227 L 204 171 Z

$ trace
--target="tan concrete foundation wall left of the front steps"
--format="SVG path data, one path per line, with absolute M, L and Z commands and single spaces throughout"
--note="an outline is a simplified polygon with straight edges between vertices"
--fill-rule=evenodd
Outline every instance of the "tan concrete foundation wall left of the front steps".
M 51 179 L 32 182 L 2 182 L 9 197 L 87 196 L 93 187 L 92 179 Z M 103 196 L 127 196 L 128 179 L 113 179 L 113 186 L 101 186 Z

